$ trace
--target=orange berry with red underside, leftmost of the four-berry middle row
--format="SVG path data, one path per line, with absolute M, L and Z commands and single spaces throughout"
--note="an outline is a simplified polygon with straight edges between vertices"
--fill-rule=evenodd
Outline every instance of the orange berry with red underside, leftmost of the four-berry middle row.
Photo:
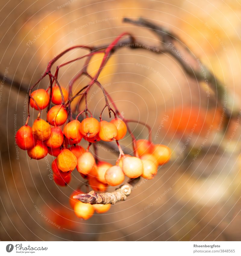
M 68 144 L 77 144 L 82 139 L 82 134 L 79 131 L 80 128 L 80 122 L 78 120 L 73 120 L 69 123 L 67 123 L 64 126 L 64 136 L 67 138 Z

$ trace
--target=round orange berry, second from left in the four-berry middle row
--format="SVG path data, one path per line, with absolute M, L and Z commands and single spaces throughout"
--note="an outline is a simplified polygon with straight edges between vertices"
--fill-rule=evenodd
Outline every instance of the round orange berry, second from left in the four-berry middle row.
M 80 132 L 87 138 L 94 137 L 100 130 L 100 125 L 97 119 L 93 117 L 85 118 L 80 124 Z

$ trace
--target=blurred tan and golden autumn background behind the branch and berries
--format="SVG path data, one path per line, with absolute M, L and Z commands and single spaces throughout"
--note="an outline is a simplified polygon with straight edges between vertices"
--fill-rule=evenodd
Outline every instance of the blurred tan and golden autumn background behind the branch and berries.
M 231 0 L 1 1 L 0 239 L 240 240 L 240 4 Z M 27 118 L 28 86 L 63 50 L 110 43 L 124 31 L 158 45 L 151 31 L 123 23 L 123 17 L 145 17 L 176 33 L 223 83 L 224 103 L 218 106 L 210 85 L 190 78 L 168 54 L 127 47 L 115 52 L 100 75 L 101 83 L 126 119 L 152 127 L 154 143 L 168 145 L 172 158 L 159 167 L 155 179 L 140 181 L 127 201 L 84 221 L 75 216 L 68 201 L 83 182 L 80 175 L 76 172 L 67 187 L 58 187 L 50 175 L 52 156 L 30 160 L 16 147 L 14 135 Z M 85 53 L 71 51 L 57 64 Z M 100 58 L 93 59 L 89 72 L 95 72 L 99 62 Z M 79 61 L 64 67 L 59 72 L 61 86 L 67 87 L 82 65 Z M 74 90 L 86 83 L 78 80 Z M 39 84 L 39 88 L 47 86 L 47 79 Z M 95 117 L 105 104 L 97 89 L 89 93 Z M 238 114 L 227 121 L 226 111 Z M 36 114 L 31 112 L 30 125 Z M 106 112 L 104 119 L 108 120 Z M 140 139 L 148 136 L 141 125 L 131 128 Z M 126 136 L 121 144 L 131 149 L 130 142 Z M 86 147 L 84 142 L 81 145 Z M 111 163 L 117 158 L 106 147 L 100 147 L 98 154 Z

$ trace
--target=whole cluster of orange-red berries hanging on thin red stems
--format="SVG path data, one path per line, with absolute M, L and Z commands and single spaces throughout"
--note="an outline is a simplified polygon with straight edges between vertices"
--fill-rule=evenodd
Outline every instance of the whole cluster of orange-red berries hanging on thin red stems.
M 124 182 L 125 176 L 130 179 L 135 179 L 139 176 L 145 179 L 152 179 L 157 173 L 158 165 L 167 163 L 170 159 L 171 151 L 168 147 L 152 144 L 151 131 L 149 140 L 136 140 L 128 123 L 138 121 L 127 120 L 124 117 L 117 118 L 121 114 L 113 101 L 111 104 L 115 110 L 111 109 L 108 103 L 110 96 L 100 85 L 97 78 L 106 62 L 106 54 L 111 51 L 113 46 L 114 44 L 111 43 L 104 51 L 103 61 L 95 77 L 90 77 L 86 71 L 81 73 L 81 75 L 86 74 L 92 78 L 92 82 L 80 90 L 75 96 L 71 92 L 72 82 L 69 85 L 69 92 L 59 85 L 57 80 L 59 66 L 56 69 L 55 76 L 51 74 L 50 68 L 52 63 L 56 61 L 56 58 L 52 62 L 49 62 L 46 73 L 42 76 L 43 78 L 49 75 L 50 85 L 47 90 L 37 89 L 32 92 L 32 88 L 35 85 L 30 88 L 29 105 L 38 110 L 39 115 L 33 122 L 33 126 L 30 127 L 28 125 L 30 117 L 28 108 L 27 122 L 17 131 L 16 143 L 21 149 L 27 150 L 28 155 L 32 159 L 42 159 L 48 153 L 56 157 L 52 162 L 52 171 L 53 180 L 57 185 L 67 185 L 70 182 L 71 173 L 74 169 L 77 169 L 77 172 L 84 179 L 88 180 L 88 184 L 93 190 L 105 192 L 108 185 L 121 185 Z M 93 51 L 90 56 L 95 53 Z M 106 105 L 100 113 L 100 121 L 92 116 L 87 107 L 87 93 L 94 83 L 97 83 L 102 88 L 106 100 Z M 81 93 L 82 91 L 83 93 Z M 86 107 L 73 120 L 70 103 L 76 96 L 81 96 L 81 99 L 85 98 Z M 55 106 L 52 106 L 51 103 L 55 104 Z M 110 122 L 102 120 L 102 112 L 106 107 L 108 107 L 110 117 L 111 112 L 114 113 L 114 119 Z M 45 108 L 48 108 L 46 121 L 40 118 L 41 111 Z M 81 122 L 79 121 L 80 117 L 82 117 Z M 133 139 L 134 156 L 124 154 L 118 142 L 124 138 L 127 131 Z M 88 142 L 86 149 L 79 145 L 82 139 Z M 115 141 L 117 143 L 120 155 L 115 165 L 100 161 L 97 156 L 93 156 L 89 152 L 90 146 L 92 144 L 95 145 L 99 141 Z M 94 211 L 104 213 L 110 209 L 110 204 L 91 205 L 74 199 L 75 195 L 82 193 L 77 189 L 70 196 L 70 206 L 74 209 L 78 217 L 87 220 L 93 215 Z

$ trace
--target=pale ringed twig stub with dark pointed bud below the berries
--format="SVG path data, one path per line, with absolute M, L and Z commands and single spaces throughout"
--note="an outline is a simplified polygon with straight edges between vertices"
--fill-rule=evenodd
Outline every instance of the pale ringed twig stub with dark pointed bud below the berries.
M 115 204 L 119 201 L 126 200 L 139 179 L 140 177 L 132 179 L 124 185 L 121 185 L 120 188 L 117 188 L 115 191 L 110 193 L 106 192 L 99 194 L 92 190 L 86 194 L 76 195 L 74 198 L 88 204 Z

